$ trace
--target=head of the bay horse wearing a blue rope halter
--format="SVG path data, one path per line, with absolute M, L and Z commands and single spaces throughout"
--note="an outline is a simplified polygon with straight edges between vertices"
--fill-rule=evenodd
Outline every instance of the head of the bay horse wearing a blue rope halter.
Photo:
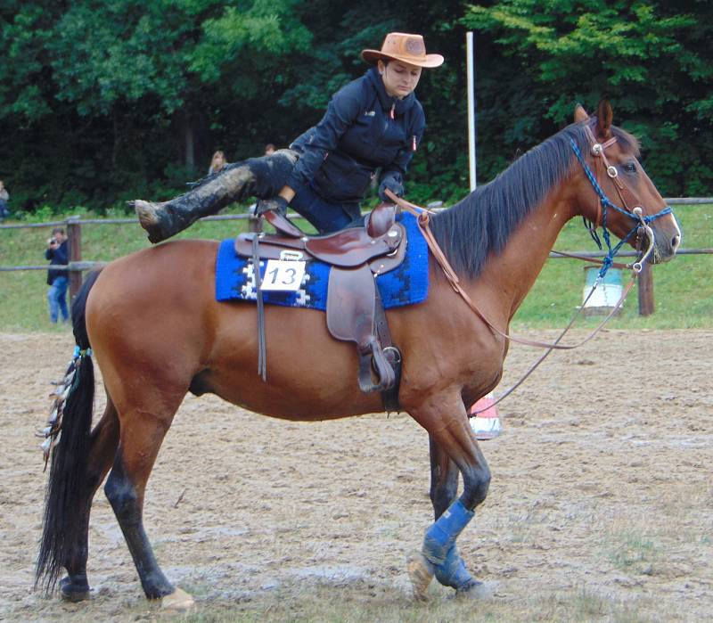
M 651 253 L 650 261 L 674 258 L 681 243 L 681 230 L 670 208 L 638 161 L 638 142 L 611 125 L 609 102 L 600 102 L 596 118 L 577 106 L 575 122 L 588 137 L 586 152 L 573 144 L 582 167 L 580 197 L 582 215 L 595 225 L 604 225 L 632 246 Z

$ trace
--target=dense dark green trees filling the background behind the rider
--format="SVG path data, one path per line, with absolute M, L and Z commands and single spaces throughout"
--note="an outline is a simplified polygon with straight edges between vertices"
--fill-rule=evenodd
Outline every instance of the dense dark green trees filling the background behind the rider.
M 449 200 L 468 185 L 466 29 L 480 181 L 606 95 L 664 194 L 711 194 L 706 0 L 5 0 L 0 178 L 15 210 L 172 195 L 216 149 L 290 143 L 365 70 L 359 51 L 401 30 L 447 57 L 418 89 L 429 126 L 409 196 Z

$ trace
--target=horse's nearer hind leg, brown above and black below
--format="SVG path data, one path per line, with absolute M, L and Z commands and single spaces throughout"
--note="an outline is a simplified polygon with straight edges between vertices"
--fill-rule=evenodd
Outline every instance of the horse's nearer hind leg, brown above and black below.
M 104 485 L 148 599 L 176 592 L 160 570 L 143 529 L 143 496 L 161 442 L 184 393 L 171 398 L 157 396 L 150 403 L 144 395 L 141 406 L 121 410 L 119 450 Z

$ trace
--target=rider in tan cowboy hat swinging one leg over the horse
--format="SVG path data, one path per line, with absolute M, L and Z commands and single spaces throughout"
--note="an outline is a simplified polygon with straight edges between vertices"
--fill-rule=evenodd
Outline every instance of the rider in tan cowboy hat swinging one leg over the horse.
M 381 168 L 379 196 L 404 192 L 403 176 L 426 122 L 414 88 L 422 68 L 443 63 L 426 53 L 421 35 L 392 32 L 381 50 L 364 50 L 375 65 L 332 96 L 323 119 L 271 156 L 227 165 L 171 201 L 134 201 L 151 242 L 161 242 L 200 217 L 255 195 L 258 214 L 290 207 L 320 233 L 359 218 L 359 201 Z

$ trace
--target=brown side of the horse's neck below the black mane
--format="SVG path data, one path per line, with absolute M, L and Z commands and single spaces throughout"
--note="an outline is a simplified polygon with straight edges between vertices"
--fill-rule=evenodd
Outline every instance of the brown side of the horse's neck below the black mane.
M 545 197 L 512 233 L 504 250 L 488 258 L 476 290 L 486 284 L 500 301 L 502 320 L 509 322 L 540 274 L 561 228 L 574 216 L 563 193 Z

